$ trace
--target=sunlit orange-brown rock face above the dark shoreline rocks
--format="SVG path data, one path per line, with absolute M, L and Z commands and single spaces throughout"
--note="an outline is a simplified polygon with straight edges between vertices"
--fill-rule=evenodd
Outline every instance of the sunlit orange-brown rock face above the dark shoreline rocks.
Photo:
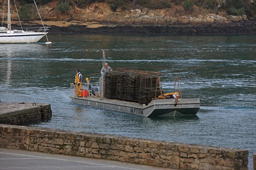
M 120 8 L 113 12 L 107 3 L 93 3 L 85 9 L 70 7 L 70 11 L 61 13 L 56 10 L 58 0 L 41 6 L 40 13 L 44 20 L 116 23 L 129 25 L 172 25 L 176 23 L 232 23 L 247 21 L 247 16 L 231 16 L 223 13 L 212 14 L 195 6 L 195 12 L 187 14 L 182 6 L 174 3 L 169 9 L 131 9 L 122 11 Z

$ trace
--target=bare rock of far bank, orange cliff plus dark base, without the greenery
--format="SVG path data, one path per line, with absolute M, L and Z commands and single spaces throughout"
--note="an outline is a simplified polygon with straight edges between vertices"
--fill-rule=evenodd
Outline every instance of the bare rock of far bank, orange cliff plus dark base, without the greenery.
M 53 0 L 44 6 L 38 6 L 45 25 L 51 26 L 52 33 L 205 35 L 256 32 L 256 20 L 253 18 L 248 20 L 246 15 L 232 16 L 225 12 L 212 14 L 197 6 L 194 6 L 192 13 L 187 13 L 182 6 L 177 6 L 175 3 L 172 3 L 169 9 L 121 10 L 118 8 L 113 12 L 107 3 L 93 3 L 84 9 L 70 6 L 69 11 L 60 12 L 57 10 L 59 3 L 60 0 Z M 17 20 L 15 6 L 12 6 L 11 12 L 12 21 Z M 0 14 L 3 13 L 6 17 L 6 12 L 2 9 Z M 35 20 L 40 18 L 37 17 Z M 60 25 L 60 22 L 69 28 L 63 28 L 64 24 Z M 35 21 L 30 21 L 28 24 L 31 23 Z

